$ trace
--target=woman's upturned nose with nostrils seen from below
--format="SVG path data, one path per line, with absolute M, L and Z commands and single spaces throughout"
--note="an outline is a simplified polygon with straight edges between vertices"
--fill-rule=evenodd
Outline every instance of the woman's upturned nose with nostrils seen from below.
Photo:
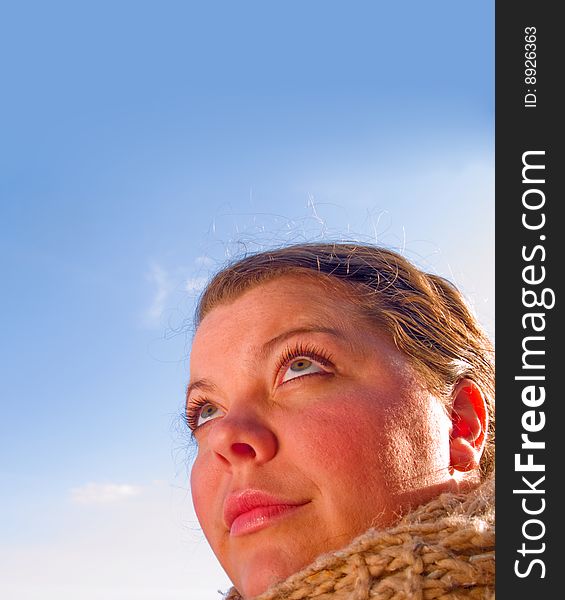
M 234 414 L 230 411 L 210 428 L 208 443 L 226 466 L 264 464 L 278 451 L 278 440 L 258 415 Z

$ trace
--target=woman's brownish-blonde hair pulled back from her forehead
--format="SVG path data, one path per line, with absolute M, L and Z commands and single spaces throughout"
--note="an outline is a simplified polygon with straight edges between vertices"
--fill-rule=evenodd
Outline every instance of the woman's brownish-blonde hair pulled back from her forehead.
M 389 249 L 351 243 L 310 243 L 246 256 L 217 273 L 200 297 L 196 326 L 218 304 L 287 274 L 313 277 L 347 298 L 384 330 L 422 374 L 430 391 L 447 399 L 463 378 L 487 403 L 489 432 L 481 474 L 494 468 L 494 349 L 462 294 Z

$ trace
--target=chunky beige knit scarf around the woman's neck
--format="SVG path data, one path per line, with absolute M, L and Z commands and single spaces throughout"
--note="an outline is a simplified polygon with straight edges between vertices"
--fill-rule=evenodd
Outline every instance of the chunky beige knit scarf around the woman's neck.
M 255 600 L 494 599 L 494 478 L 369 529 Z M 226 600 L 243 600 L 232 588 Z

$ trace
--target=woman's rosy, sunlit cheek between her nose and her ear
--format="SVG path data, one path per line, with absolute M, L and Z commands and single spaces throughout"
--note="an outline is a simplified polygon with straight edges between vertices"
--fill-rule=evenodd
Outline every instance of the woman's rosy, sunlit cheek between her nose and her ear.
M 434 406 L 425 398 L 374 392 L 325 398 L 304 410 L 293 435 L 295 456 L 325 487 L 405 491 L 449 459 L 446 417 Z

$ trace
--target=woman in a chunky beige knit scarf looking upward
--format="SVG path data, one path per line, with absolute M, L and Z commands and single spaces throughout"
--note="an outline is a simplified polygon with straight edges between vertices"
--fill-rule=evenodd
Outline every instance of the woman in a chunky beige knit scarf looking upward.
M 229 598 L 491 598 L 491 344 L 446 280 L 303 244 L 196 316 L 191 488 Z

